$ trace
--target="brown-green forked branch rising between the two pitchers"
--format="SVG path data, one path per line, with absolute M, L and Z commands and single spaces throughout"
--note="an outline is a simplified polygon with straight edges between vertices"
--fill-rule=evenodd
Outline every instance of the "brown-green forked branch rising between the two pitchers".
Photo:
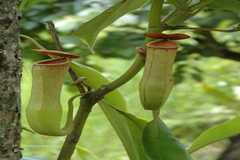
M 61 46 L 54 24 L 52 22 L 48 22 L 48 27 L 52 35 L 52 38 L 55 42 L 56 48 L 63 51 L 63 47 Z M 143 50 L 141 49 L 141 51 L 139 51 L 139 54 L 137 54 L 136 59 L 132 64 L 132 66 L 122 76 L 117 78 L 115 81 L 109 83 L 108 85 L 102 86 L 96 91 L 91 91 L 87 94 L 84 94 L 81 97 L 80 107 L 78 109 L 78 112 L 73 122 L 74 123 L 73 130 L 67 135 L 57 160 L 71 159 L 71 156 L 75 150 L 75 146 L 77 145 L 80 139 L 83 127 L 86 123 L 86 120 L 93 106 L 97 102 L 102 100 L 106 94 L 108 94 L 109 92 L 115 90 L 116 88 L 128 82 L 132 77 L 134 77 L 141 70 L 141 68 L 144 66 L 144 63 L 145 63 L 145 60 L 144 60 L 145 58 L 143 55 L 141 55 L 143 54 L 142 52 Z M 70 69 L 69 72 L 72 79 L 76 82 L 78 80 L 78 76 L 76 75 L 76 73 L 74 73 L 72 69 Z M 80 93 L 82 92 L 81 87 L 82 86 L 78 86 Z

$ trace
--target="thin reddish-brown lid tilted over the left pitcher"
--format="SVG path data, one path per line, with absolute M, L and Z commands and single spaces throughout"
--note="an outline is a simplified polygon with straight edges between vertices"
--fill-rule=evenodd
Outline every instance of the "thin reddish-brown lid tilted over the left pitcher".
M 47 49 L 33 49 L 34 51 L 39 52 L 42 55 L 46 56 L 56 56 L 56 57 L 64 57 L 64 58 L 79 58 L 79 55 L 58 51 L 58 50 L 47 50 Z

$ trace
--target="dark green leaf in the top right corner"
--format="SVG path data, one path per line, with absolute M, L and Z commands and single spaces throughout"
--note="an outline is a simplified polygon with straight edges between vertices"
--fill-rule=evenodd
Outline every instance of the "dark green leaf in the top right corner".
M 240 1 L 239 0 L 214 0 L 209 4 L 208 8 L 231 11 L 239 14 Z

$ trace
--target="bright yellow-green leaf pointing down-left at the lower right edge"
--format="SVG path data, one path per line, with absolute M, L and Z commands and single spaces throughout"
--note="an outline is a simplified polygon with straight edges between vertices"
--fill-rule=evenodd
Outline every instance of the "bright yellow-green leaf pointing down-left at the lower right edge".
M 209 144 L 239 134 L 239 124 L 240 117 L 236 117 L 232 120 L 225 121 L 221 124 L 215 125 L 207 129 L 193 141 L 191 147 L 189 148 L 189 152 L 195 152 Z

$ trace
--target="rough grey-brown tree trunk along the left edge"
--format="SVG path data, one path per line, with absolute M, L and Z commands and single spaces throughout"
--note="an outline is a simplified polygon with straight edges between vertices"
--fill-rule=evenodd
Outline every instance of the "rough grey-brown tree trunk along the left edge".
M 21 158 L 18 3 L 0 0 L 0 160 Z

